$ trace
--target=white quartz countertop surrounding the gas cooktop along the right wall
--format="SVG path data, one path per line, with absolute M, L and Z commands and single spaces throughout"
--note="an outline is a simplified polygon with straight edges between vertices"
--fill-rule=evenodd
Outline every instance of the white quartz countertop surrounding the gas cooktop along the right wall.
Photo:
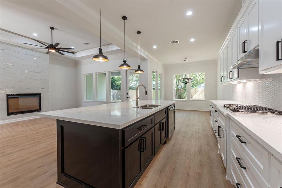
M 210 100 L 218 110 L 243 128 L 257 142 L 282 161 L 282 115 L 232 113 L 223 104 L 246 104 L 237 101 Z

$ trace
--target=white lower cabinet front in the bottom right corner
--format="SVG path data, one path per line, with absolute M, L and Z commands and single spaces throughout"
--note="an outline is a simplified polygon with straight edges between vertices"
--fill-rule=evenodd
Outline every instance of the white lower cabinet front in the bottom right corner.
M 271 185 L 273 188 L 282 187 L 282 162 L 271 157 Z

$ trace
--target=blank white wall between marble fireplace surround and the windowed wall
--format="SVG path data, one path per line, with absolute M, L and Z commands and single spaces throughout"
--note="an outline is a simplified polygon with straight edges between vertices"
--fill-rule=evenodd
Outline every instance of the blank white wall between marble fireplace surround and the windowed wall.
M 75 61 L 50 54 L 49 77 L 50 111 L 77 107 Z

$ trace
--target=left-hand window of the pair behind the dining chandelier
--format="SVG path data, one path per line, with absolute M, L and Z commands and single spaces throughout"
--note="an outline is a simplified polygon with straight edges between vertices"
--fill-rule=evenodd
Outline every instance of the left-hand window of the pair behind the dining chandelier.
M 180 78 L 185 78 L 185 74 L 176 74 L 174 75 L 174 80 L 173 80 L 173 91 L 174 91 L 174 99 L 182 99 L 186 100 L 187 99 L 187 89 L 186 86 L 187 84 L 181 83 Z

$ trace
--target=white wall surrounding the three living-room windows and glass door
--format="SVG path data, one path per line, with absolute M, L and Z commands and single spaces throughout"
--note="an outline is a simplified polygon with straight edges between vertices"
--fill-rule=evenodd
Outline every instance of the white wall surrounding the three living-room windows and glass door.
M 92 59 L 87 60 L 80 60 L 76 64 L 76 88 L 77 88 L 77 104 L 79 107 L 83 106 L 91 106 L 97 105 L 101 103 L 110 102 L 110 79 L 109 79 L 109 71 L 121 71 L 121 101 L 126 101 L 126 70 L 119 69 L 119 65 L 123 63 L 124 54 L 115 54 L 115 55 L 108 55 L 109 61 L 108 62 L 96 62 Z M 127 54 L 127 63 L 131 66 L 132 70 L 137 69 L 138 67 L 138 58 Z M 146 87 L 148 86 L 148 66 L 147 60 L 141 61 L 140 60 L 141 69 L 145 72 L 140 74 L 140 83 L 144 84 Z M 107 102 L 97 101 L 97 89 L 95 88 L 94 84 L 94 100 L 93 101 L 84 101 L 84 79 L 83 75 L 86 73 L 93 74 L 93 83 L 96 81 L 95 73 L 99 72 L 106 72 L 106 90 L 107 90 Z M 145 96 L 144 89 L 141 88 L 140 90 L 140 97 L 142 99 L 147 99 Z

